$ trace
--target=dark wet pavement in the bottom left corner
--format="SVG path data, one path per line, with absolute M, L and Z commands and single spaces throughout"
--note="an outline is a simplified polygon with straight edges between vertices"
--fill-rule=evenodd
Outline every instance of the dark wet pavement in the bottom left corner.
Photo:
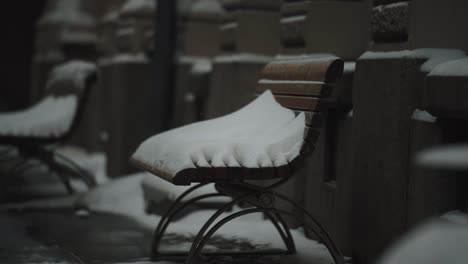
M 122 215 L 0 213 L 0 263 L 116 263 L 147 259 L 151 231 Z

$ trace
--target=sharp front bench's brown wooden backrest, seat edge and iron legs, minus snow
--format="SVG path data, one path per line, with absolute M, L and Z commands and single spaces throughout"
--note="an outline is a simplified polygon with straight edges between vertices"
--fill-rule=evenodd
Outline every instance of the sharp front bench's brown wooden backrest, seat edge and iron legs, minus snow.
M 344 62 L 338 58 L 301 58 L 303 62 L 293 63 L 284 59 L 274 61 L 265 66 L 257 85 L 257 92 L 271 90 L 276 100 L 296 113 L 306 114 L 306 129 L 304 131 L 304 143 L 301 154 L 291 163 L 281 167 L 271 168 L 195 168 L 186 169 L 176 175 L 172 175 L 172 183 L 186 185 L 192 182 L 200 182 L 180 195 L 162 216 L 153 234 L 151 245 L 151 259 L 186 258 L 185 263 L 193 263 L 200 255 L 287 255 L 295 254 L 296 247 L 291 232 L 283 216 L 295 218 L 305 228 L 312 231 L 316 237 L 329 250 L 335 263 L 345 263 L 343 254 L 336 246 L 325 228 L 305 208 L 296 204 L 292 199 L 275 192 L 274 189 L 283 185 L 297 171 L 304 162 L 304 157 L 310 153 L 318 139 L 319 129 L 326 110 L 332 106 L 330 96 L 334 83 L 343 74 Z M 286 81 L 280 85 L 265 84 L 262 79 Z M 297 83 L 295 81 L 304 81 Z M 131 158 L 130 161 L 137 167 L 147 170 L 155 175 L 164 175 L 158 168 L 145 164 L 140 160 Z M 165 175 L 167 176 L 167 175 Z M 161 177 L 161 176 L 159 176 Z M 168 180 L 167 177 L 164 177 Z M 272 180 L 278 179 L 273 184 L 263 187 L 253 185 L 245 180 Z M 204 194 L 184 200 L 191 192 L 209 183 L 215 183 L 217 193 Z M 232 196 L 233 200 L 216 211 L 202 226 L 194 238 L 189 252 L 160 252 L 159 246 L 164 234 L 172 222 L 174 216 L 187 206 L 200 201 L 218 196 Z M 274 201 L 282 200 L 293 207 L 293 210 L 276 208 Z M 234 212 L 223 219 L 219 217 L 228 212 L 234 205 L 249 204 L 252 208 Z M 247 214 L 263 213 L 274 225 L 281 236 L 286 250 L 263 250 L 251 252 L 206 252 L 202 249 L 214 233 L 229 221 Z M 300 212 L 303 215 L 298 215 Z M 217 221 L 218 220 L 218 221 Z M 211 227 L 211 228 L 210 228 Z

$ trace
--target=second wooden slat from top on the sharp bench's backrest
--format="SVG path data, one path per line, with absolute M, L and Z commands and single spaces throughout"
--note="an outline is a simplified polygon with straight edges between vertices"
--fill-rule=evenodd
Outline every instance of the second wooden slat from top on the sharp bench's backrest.
M 327 97 L 331 94 L 331 87 L 324 83 L 306 83 L 306 82 L 278 82 L 266 83 L 259 81 L 257 92 L 262 93 L 270 90 L 276 95 L 307 95 L 316 97 Z

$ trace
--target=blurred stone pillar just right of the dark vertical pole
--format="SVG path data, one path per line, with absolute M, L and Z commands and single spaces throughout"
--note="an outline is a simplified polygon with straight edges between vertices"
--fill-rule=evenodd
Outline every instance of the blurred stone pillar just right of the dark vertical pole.
M 172 127 L 204 118 L 212 58 L 220 53 L 219 25 L 224 9 L 217 0 L 179 6 L 179 48 Z

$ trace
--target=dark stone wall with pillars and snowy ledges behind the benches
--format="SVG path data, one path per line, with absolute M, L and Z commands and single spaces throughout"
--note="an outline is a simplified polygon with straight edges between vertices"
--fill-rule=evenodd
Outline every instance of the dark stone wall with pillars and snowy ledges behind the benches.
M 137 171 L 128 158 L 148 137 L 250 102 L 273 59 L 326 53 L 346 61 L 338 107 L 283 191 L 362 263 L 428 217 L 466 210 L 466 173 L 414 163 L 423 149 L 468 141 L 466 78 L 430 77 L 421 62 L 359 64 L 368 51 L 464 57 L 465 0 L 31 0 L 1 9 L 0 110 L 38 102 L 55 65 L 96 63 L 100 80 L 69 145 L 104 157 L 111 179 Z

